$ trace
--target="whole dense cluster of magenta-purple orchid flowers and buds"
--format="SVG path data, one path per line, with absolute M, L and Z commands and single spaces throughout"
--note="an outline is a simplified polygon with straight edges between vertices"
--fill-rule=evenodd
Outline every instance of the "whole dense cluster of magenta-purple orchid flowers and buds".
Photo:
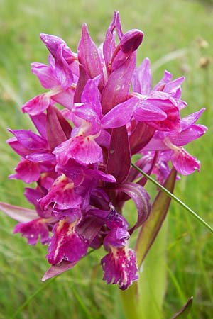
M 131 168 L 131 157 L 137 154 L 138 167 L 160 182 L 170 172 L 169 161 L 180 174 L 199 170 L 200 162 L 182 146 L 204 134 L 206 128 L 195 124 L 204 108 L 180 117 L 187 106 L 181 99 L 184 77 L 172 79 L 165 71 L 152 88 L 148 58 L 136 68 L 143 32 L 124 34 L 118 12 L 100 47 L 86 24 L 77 54 L 61 38 L 40 38 L 50 52 L 48 65 L 35 62 L 32 72 L 48 91 L 22 107 L 37 133 L 9 130 L 8 143 L 21 156 L 10 178 L 36 184 L 25 190 L 35 210 L 13 208 L 11 216 L 21 222 L 14 233 L 30 245 L 38 238 L 48 244 L 46 258 L 57 269 L 72 267 L 103 245 L 104 280 L 126 289 L 138 279 L 129 238 L 151 208 L 146 179 Z M 131 228 L 122 216 L 130 198 L 138 214 Z M 10 211 L 7 204 L 1 208 Z

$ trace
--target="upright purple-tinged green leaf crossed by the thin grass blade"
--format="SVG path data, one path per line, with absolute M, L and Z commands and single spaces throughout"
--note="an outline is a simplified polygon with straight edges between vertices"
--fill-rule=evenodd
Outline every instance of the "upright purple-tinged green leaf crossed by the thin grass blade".
M 168 179 L 163 185 L 165 189 L 168 189 L 170 192 L 173 191 L 175 186 L 177 172 L 172 169 Z M 136 242 L 136 254 L 138 259 L 138 267 L 141 267 L 141 264 L 146 257 L 148 250 L 151 248 L 155 237 L 158 235 L 158 232 L 165 220 L 165 216 L 168 212 L 171 198 L 167 196 L 163 191 L 159 191 L 158 195 L 153 202 L 150 216 L 143 224 L 140 233 L 138 234 L 138 239 Z

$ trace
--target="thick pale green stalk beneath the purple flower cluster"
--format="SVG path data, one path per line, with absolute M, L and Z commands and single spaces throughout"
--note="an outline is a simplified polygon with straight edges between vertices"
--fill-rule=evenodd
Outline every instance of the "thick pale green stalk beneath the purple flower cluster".
M 138 282 L 121 291 L 126 319 L 163 318 L 162 306 L 166 286 L 165 245 L 168 221 L 165 219 L 158 237 L 143 262 Z

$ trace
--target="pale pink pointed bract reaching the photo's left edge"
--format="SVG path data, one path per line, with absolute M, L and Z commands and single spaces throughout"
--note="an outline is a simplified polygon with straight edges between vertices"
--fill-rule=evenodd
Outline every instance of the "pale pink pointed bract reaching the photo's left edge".
M 34 209 L 13 206 L 9 203 L 0 202 L 0 209 L 1 211 L 4 211 L 6 215 L 10 216 L 14 220 L 18 220 L 20 223 L 27 223 L 28 221 L 38 218 L 38 214 Z

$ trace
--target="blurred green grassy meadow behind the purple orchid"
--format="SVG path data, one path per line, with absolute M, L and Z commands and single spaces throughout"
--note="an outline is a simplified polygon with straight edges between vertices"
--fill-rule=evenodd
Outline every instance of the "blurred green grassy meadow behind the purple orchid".
M 201 173 L 182 177 L 175 194 L 211 224 L 212 1 L 0 0 L 0 7 L 0 201 L 28 206 L 23 183 L 7 179 L 18 156 L 5 140 L 10 136 L 7 127 L 29 128 L 31 124 L 21 113 L 21 105 L 43 91 L 30 72 L 31 62 L 47 61 L 39 33 L 59 35 L 75 51 L 82 23 L 87 22 L 92 38 L 99 44 L 116 9 L 124 31 L 139 28 L 145 33 L 138 64 L 143 57 L 150 57 L 154 83 L 164 69 L 173 72 L 174 77 L 186 76 L 182 89 L 188 108 L 182 115 L 207 108 L 200 120 L 209 127 L 207 134 L 187 147 L 202 162 Z M 176 203 L 170 208 L 168 222 L 168 285 L 161 318 L 170 318 L 187 298 L 194 296 L 191 318 L 211 319 L 212 235 Z M 102 281 L 99 258 L 103 252 L 89 255 L 70 272 L 43 284 L 40 278 L 48 267 L 46 247 L 28 247 L 21 236 L 11 235 L 14 225 L 0 213 L 1 319 L 124 318 L 118 289 Z

